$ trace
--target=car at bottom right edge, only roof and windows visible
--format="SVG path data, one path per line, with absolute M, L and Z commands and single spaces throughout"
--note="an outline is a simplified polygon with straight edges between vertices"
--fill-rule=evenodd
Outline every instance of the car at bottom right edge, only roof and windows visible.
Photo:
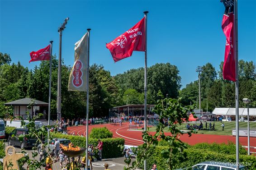
M 186 169 L 188 168 L 177 170 Z M 237 168 L 235 163 L 207 161 L 192 166 L 192 170 L 237 170 Z M 239 170 L 247 170 L 247 167 L 239 165 Z

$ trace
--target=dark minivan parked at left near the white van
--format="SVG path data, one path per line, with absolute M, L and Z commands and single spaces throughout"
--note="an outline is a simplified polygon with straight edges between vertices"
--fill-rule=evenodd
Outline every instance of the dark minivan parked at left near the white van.
M 8 138 L 8 146 L 14 145 L 19 146 L 21 149 L 27 147 L 34 147 L 36 145 L 37 139 L 24 138 L 23 141 L 19 141 L 19 135 L 28 134 L 28 129 L 14 129 Z

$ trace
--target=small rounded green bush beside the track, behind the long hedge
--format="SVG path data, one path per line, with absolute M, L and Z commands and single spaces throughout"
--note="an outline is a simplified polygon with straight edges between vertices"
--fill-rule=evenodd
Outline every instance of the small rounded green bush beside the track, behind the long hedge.
M 104 138 L 112 138 L 113 133 L 109 131 L 106 127 L 103 128 L 93 128 L 91 129 L 90 138 L 95 139 L 104 139 Z

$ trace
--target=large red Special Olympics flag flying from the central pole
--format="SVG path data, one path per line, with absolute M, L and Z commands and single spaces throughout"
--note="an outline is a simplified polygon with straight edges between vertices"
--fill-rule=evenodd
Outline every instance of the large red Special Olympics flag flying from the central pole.
M 145 17 L 106 47 L 115 62 L 132 56 L 133 51 L 145 51 Z

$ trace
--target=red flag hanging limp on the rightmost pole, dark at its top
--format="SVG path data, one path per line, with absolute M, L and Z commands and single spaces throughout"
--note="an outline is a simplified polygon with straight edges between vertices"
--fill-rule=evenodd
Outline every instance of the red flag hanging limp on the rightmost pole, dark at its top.
M 225 13 L 222 20 L 222 29 L 226 36 L 226 48 L 223 64 L 223 79 L 236 81 L 236 55 L 235 55 L 235 37 L 234 37 L 234 13 L 233 0 L 223 0 Z

